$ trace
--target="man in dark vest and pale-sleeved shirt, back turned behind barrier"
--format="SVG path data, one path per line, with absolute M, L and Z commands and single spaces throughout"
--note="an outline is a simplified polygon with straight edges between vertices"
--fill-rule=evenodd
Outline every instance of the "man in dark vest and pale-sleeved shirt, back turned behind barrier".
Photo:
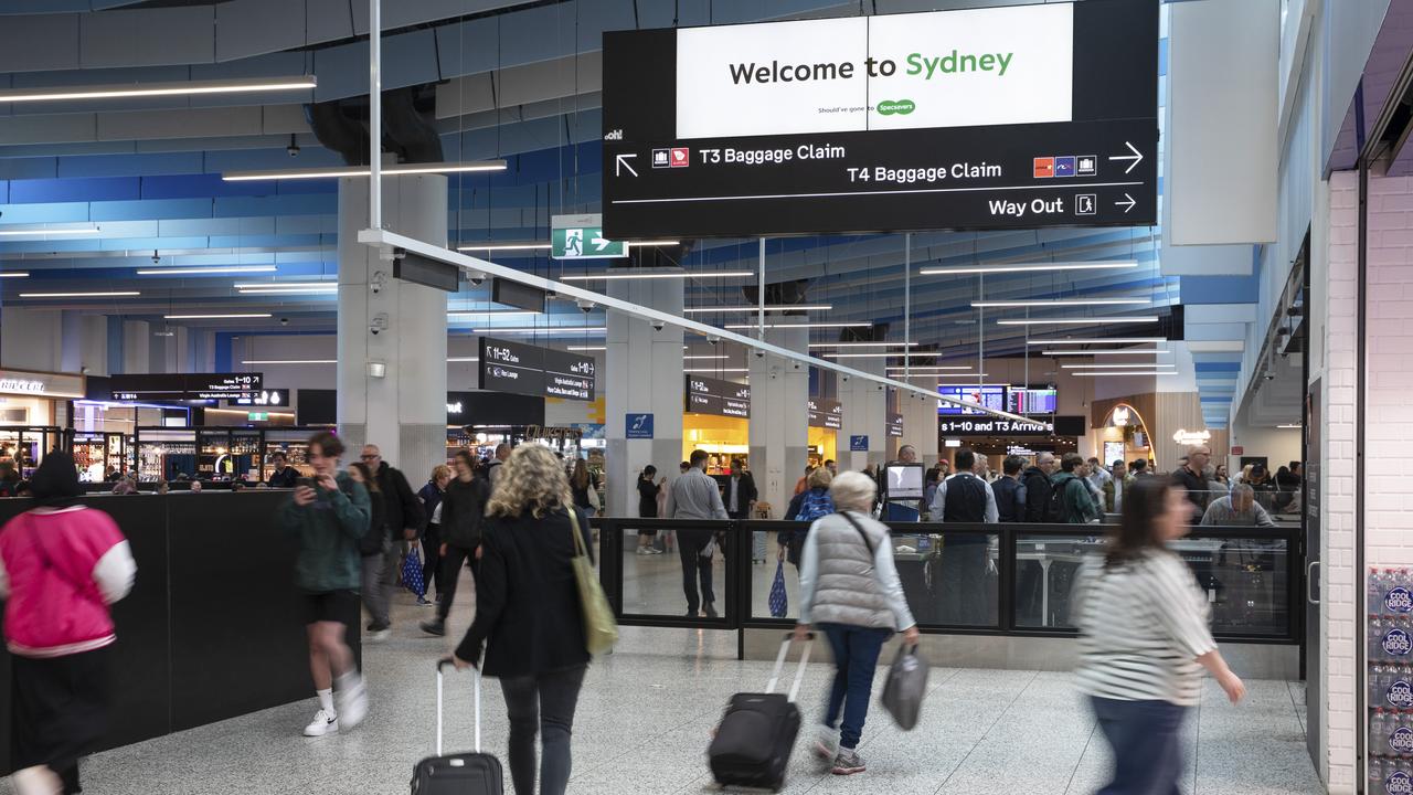
M 944 523 L 988 523 L 1000 521 L 991 484 L 976 477 L 982 464 L 969 447 L 957 451 L 957 474 L 937 487 L 933 516 Z M 991 624 L 986 598 L 986 547 L 989 533 L 945 533 L 942 536 L 941 596 L 947 624 Z

